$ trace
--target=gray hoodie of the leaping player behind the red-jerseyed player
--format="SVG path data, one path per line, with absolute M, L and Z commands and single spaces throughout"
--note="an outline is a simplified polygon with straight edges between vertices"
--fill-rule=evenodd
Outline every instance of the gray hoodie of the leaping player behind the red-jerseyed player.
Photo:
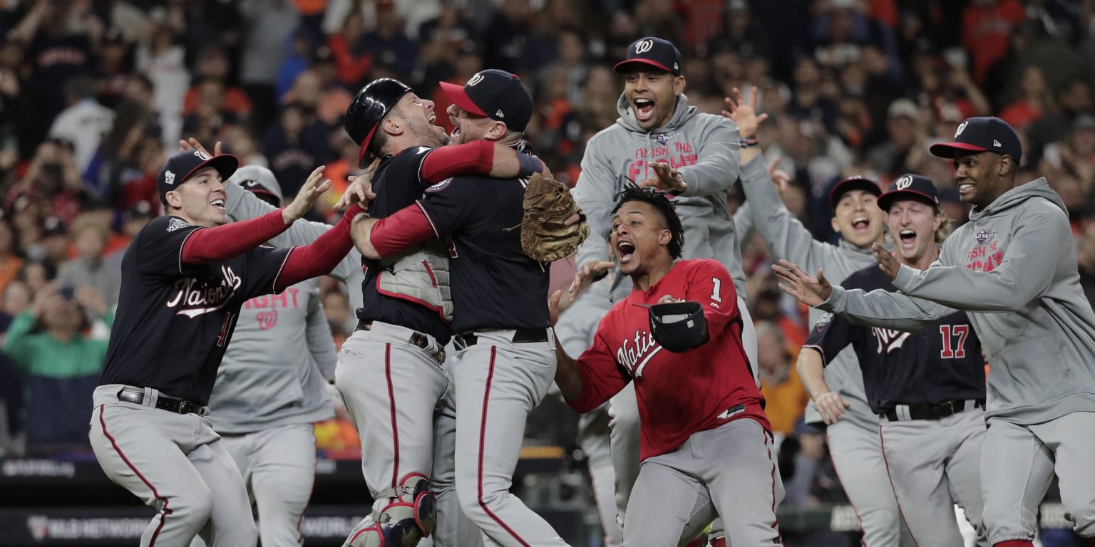
M 745 295 L 741 251 L 734 217 L 726 205 L 726 190 L 738 179 L 738 128 L 722 116 L 701 114 L 677 97 L 672 118 L 664 127 L 647 131 L 638 126 L 626 97 L 616 103 L 620 118 L 602 129 L 586 146 L 581 175 L 574 195 L 589 222 L 589 238 L 578 248 L 576 265 L 607 260 L 609 230 L 615 196 L 630 181 L 654 176 L 647 162 L 667 162 L 680 171 L 688 189 L 673 198 L 684 228 L 684 258 L 714 258 L 730 271 L 738 294 Z M 615 300 L 631 291 L 631 279 L 614 277 Z

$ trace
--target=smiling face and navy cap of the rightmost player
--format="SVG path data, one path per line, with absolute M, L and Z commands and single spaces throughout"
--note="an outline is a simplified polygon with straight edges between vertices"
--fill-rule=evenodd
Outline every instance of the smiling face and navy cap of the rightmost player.
M 930 150 L 954 161 L 959 199 L 978 208 L 1015 186 L 1023 158 L 1018 133 L 995 117 L 968 118 L 958 124 L 954 142 L 932 144 Z

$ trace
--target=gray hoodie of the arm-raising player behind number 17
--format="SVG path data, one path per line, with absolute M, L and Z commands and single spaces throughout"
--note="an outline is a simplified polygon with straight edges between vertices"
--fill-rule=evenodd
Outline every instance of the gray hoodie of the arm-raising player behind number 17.
M 775 259 L 783 258 L 798 264 L 806 271 L 825 269 L 827 279 L 843 280 L 851 274 L 877 264 L 871 248 L 860 248 L 841 241 L 839 245 L 819 242 L 803 225 L 775 190 L 768 174 L 764 156 L 757 154 L 741 165 L 741 185 L 746 193 L 746 203 L 752 212 L 752 229 L 764 240 L 764 245 Z M 822 314 L 810 310 L 810 326 L 817 324 Z M 878 417 L 871 411 L 867 396 L 863 391 L 863 372 L 852 348 L 844 348 L 825 369 L 825 381 L 829 388 L 840 393 L 852 406 L 845 420 L 852 420 L 868 428 L 878 427 Z M 821 417 L 814 405 L 806 406 L 806 422 L 817 423 Z

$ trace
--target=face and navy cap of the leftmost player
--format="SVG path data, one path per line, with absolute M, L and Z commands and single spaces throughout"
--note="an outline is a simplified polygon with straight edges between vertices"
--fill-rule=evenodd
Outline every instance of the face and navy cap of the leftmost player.
M 240 162 L 234 155 L 214 158 L 191 150 L 177 153 L 164 164 L 157 177 L 160 200 L 168 214 L 198 226 L 215 226 L 228 222 L 224 208 L 224 181 Z

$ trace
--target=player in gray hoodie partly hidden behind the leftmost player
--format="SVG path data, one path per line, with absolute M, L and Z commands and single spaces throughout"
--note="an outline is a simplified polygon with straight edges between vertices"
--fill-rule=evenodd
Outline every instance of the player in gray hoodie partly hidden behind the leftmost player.
M 232 177 L 281 206 L 281 186 L 268 168 L 244 166 Z M 318 278 L 243 303 L 217 370 L 209 421 L 258 507 L 264 546 L 303 542 L 300 523 L 315 479 L 312 424 L 334 418 L 326 387 L 334 377 L 335 347 Z

